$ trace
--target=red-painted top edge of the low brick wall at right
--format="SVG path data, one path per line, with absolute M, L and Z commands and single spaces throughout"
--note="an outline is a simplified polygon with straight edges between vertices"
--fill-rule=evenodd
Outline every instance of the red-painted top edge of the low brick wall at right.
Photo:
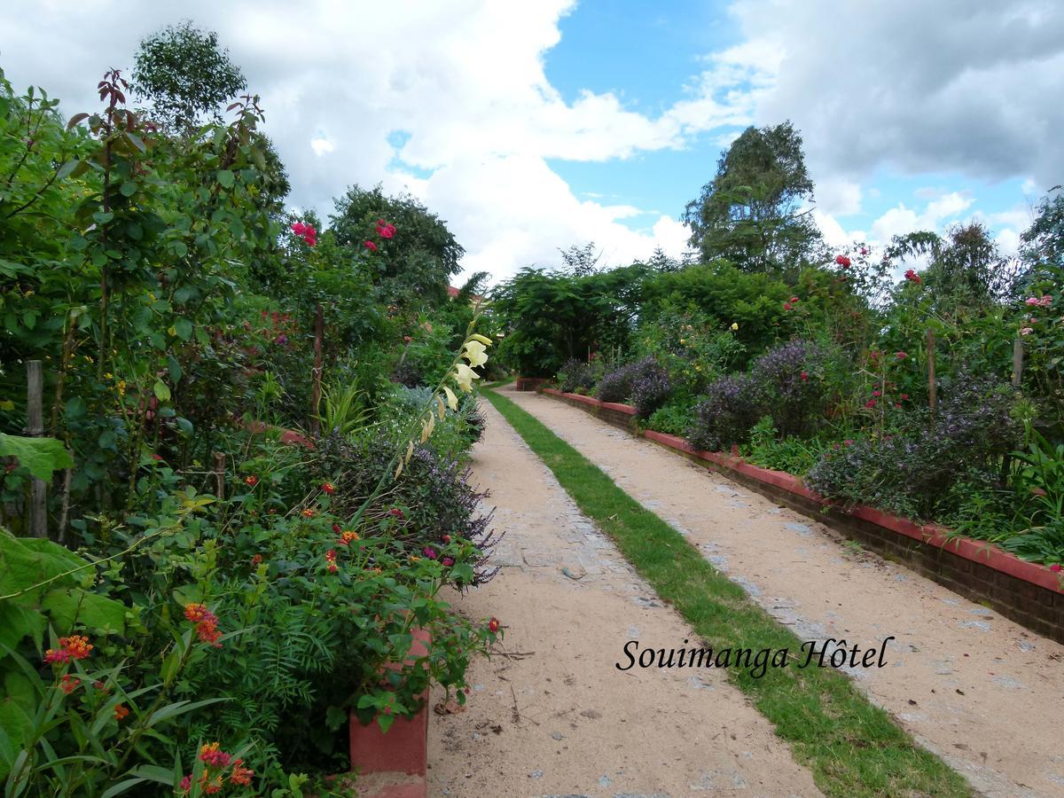
M 554 388 L 543 388 L 543 393 L 550 394 L 551 396 L 560 399 L 578 401 L 593 408 L 605 408 L 608 410 L 627 413 L 628 415 L 635 415 L 635 409 L 628 404 L 600 402 L 598 399 L 589 396 L 563 394 L 561 390 L 555 390 Z M 792 473 L 774 471 L 769 468 L 761 468 L 755 465 L 750 465 L 742 458 L 733 454 L 700 451 L 677 435 L 668 435 L 664 432 L 655 432 L 654 430 L 643 430 L 639 434 L 655 444 L 669 449 L 685 452 L 698 458 L 699 460 L 708 461 L 714 465 L 720 466 L 721 468 L 741 473 L 747 479 L 772 485 L 781 491 L 786 491 L 787 493 L 800 496 L 809 501 L 814 501 L 820 506 L 836 506 L 833 502 L 825 499 L 819 494 L 810 491 L 801 479 Z M 850 509 L 848 511 L 848 515 L 861 518 L 862 520 L 877 527 L 888 529 L 892 532 L 905 535 L 914 541 L 919 541 L 928 546 L 944 549 L 950 553 L 964 558 L 965 560 L 970 560 L 979 563 L 980 565 L 985 565 L 986 567 L 1001 571 L 1002 573 L 1008 573 L 1010 577 L 1015 577 L 1016 579 L 1030 582 L 1031 584 L 1038 585 L 1040 587 L 1045 587 L 1054 593 L 1064 594 L 1064 586 L 1061 585 L 1061 579 L 1053 571 L 1049 570 L 1048 567 L 1045 565 L 1029 563 L 1026 560 L 1020 560 L 1015 554 L 1004 551 L 986 541 L 974 541 L 969 537 L 953 535 L 948 529 L 940 527 L 938 525 L 918 525 L 908 518 L 899 518 L 896 515 L 884 513 L 881 510 L 865 506 L 864 504 L 859 504 Z

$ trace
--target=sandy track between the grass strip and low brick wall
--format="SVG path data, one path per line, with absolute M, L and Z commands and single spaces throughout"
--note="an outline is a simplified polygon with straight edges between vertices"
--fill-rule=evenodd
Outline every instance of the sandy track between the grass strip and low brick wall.
M 990 796 L 1064 796 L 1064 646 L 576 408 L 504 390 L 803 639 L 879 645 L 847 669 Z

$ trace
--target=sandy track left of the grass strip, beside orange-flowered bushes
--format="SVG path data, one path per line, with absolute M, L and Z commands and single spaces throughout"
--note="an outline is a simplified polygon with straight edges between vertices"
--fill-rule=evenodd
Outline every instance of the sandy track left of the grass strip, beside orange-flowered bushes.
M 472 664 L 464 712 L 430 714 L 429 794 L 820 795 L 724 674 L 614 667 L 631 639 L 671 648 L 694 634 L 486 402 L 484 413 L 473 482 L 506 531 L 502 570 L 453 600 L 497 616 L 511 656 Z

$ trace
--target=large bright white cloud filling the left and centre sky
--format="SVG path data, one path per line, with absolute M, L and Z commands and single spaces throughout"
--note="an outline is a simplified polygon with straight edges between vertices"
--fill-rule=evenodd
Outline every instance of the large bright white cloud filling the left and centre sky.
M 9 78 L 47 86 L 72 114 L 95 104 L 93 77 L 128 66 L 140 37 L 190 18 L 218 32 L 262 95 L 265 130 L 296 205 L 328 215 L 352 183 L 409 190 L 448 221 L 467 250 L 466 271 L 496 278 L 556 263 L 558 247 L 585 240 L 610 263 L 647 256 L 656 245 L 679 256 L 687 235 L 678 221 L 662 216 L 634 232 L 630 223 L 645 211 L 579 199 L 547 159 L 625 159 L 749 121 L 771 77 L 748 63 L 761 46 L 712 56 L 712 72 L 656 117 L 610 93 L 566 102 L 543 63 L 572 7 L 573 0 L 425 0 L 416 12 L 382 13 L 369 0 L 310 0 L 298 11 L 280 0 L 16 0 L 0 20 L 0 40 L 11 43 Z M 771 63 L 771 53 L 761 55 Z M 395 131 L 408 134 L 399 148 L 388 143 Z

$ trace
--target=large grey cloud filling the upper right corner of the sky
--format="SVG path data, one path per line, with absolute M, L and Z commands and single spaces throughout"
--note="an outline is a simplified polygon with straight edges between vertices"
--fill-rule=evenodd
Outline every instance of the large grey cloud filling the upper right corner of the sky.
M 814 178 L 1064 173 L 1064 3 L 742 0 L 759 123 L 791 119 Z M 711 68 L 716 68 L 712 67 Z M 732 67 L 734 68 L 734 66 Z

